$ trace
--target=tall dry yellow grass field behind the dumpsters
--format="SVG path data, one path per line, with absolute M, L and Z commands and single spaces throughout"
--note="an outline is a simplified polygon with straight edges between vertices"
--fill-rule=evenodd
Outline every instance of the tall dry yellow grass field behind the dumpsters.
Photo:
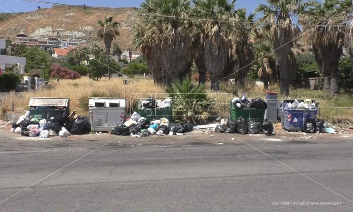
M 100 82 L 89 80 L 82 77 L 79 80 L 61 80 L 59 82 L 50 83 L 52 89 L 41 89 L 36 92 L 27 92 L 18 95 L 18 93 L 11 93 L 2 100 L 3 107 L 1 111 L 5 112 L 11 108 L 14 102 L 17 111 L 25 111 L 28 108 L 28 101 L 30 97 L 58 97 L 70 98 L 71 111 L 76 110 L 79 114 L 86 115 L 88 111 L 89 97 L 116 97 L 124 98 L 124 84 L 122 78 L 114 78 L 110 82 L 107 79 L 102 79 Z M 207 88 L 210 88 L 208 83 Z M 229 101 L 234 96 L 241 96 L 240 91 L 231 84 L 222 83 L 221 92 L 214 93 L 209 91 L 210 96 L 217 100 L 217 107 L 214 108 L 213 114 L 226 116 L 229 114 Z M 279 92 L 279 86 L 273 85 L 269 89 L 273 92 Z M 260 97 L 265 99 L 265 90 L 263 87 L 248 84 L 245 89 L 248 98 Z M 353 98 L 348 94 L 341 94 L 335 98 L 330 98 L 321 91 L 313 91 L 308 89 L 292 89 L 291 96 L 287 99 L 314 99 L 320 103 L 320 106 L 333 107 L 352 107 Z M 136 104 L 138 98 L 147 98 L 153 96 L 155 98 L 166 97 L 162 87 L 155 86 L 153 80 L 138 79 L 129 80 L 126 85 L 126 98 L 129 109 Z M 280 97 L 280 99 L 282 99 Z M 336 115 L 336 110 L 333 108 L 322 108 L 320 116 L 326 120 L 353 120 L 353 109 L 339 109 Z

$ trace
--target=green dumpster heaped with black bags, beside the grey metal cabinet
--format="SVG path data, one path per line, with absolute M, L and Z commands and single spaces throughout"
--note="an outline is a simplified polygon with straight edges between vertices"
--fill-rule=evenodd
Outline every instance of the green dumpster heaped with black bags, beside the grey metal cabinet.
M 229 104 L 229 108 L 230 117 L 233 120 L 237 120 L 238 117 L 242 116 L 246 120 L 246 122 L 264 122 L 266 110 L 260 110 L 255 108 L 237 108 L 233 106 L 232 101 Z

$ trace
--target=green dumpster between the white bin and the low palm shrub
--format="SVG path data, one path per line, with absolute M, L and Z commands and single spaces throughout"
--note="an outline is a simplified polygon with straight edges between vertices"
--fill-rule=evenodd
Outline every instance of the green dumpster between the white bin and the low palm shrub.
M 166 98 L 154 98 L 154 100 L 164 100 Z M 169 107 L 163 108 L 143 108 L 142 101 L 147 99 L 138 99 L 137 100 L 137 112 L 141 117 L 145 117 L 149 121 L 166 118 L 169 120 L 169 123 L 173 122 L 173 106 L 170 104 Z

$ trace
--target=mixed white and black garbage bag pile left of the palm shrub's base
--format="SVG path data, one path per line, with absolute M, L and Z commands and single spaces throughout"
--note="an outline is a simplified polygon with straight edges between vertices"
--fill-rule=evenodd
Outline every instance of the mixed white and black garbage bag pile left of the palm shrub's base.
M 189 122 L 169 123 L 166 118 L 149 122 L 146 118 L 140 117 L 134 112 L 130 119 L 124 124 L 116 125 L 112 129 L 113 135 L 130 135 L 131 137 L 146 137 L 150 135 L 183 135 L 193 130 L 193 125 Z

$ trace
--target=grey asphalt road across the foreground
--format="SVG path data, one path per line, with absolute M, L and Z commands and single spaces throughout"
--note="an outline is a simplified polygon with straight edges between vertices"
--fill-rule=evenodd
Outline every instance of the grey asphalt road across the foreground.
M 353 141 L 250 144 L 317 183 L 241 142 L 109 145 L 2 202 L 0 211 L 353 211 L 334 193 L 353 200 Z M 83 147 L 3 151 L 0 143 L 0 201 L 98 146 Z

